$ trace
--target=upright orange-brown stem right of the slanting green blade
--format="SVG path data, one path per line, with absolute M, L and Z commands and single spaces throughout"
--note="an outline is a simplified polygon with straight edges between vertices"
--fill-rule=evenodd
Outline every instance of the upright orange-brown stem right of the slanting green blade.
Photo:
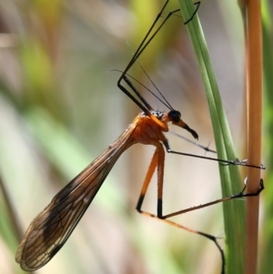
M 246 89 L 248 117 L 248 162 L 261 161 L 262 122 L 262 35 L 259 0 L 238 1 L 246 39 Z M 248 168 L 248 192 L 259 188 L 260 170 Z M 258 197 L 247 198 L 247 233 L 245 273 L 257 273 Z

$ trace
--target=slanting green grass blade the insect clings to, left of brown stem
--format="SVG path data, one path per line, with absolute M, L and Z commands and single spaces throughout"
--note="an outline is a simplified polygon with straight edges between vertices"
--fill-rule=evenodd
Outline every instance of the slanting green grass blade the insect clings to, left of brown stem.
M 184 20 L 194 12 L 192 1 L 178 1 Z M 200 5 L 202 8 L 202 5 Z M 207 43 L 200 22 L 195 18 L 187 24 L 188 35 L 194 48 L 199 70 L 206 90 L 207 104 L 214 130 L 217 156 L 223 159 L 236 159 L 235 149 L 227 123 L 227 117 L 219 94 L 216 76 L 208 54 Z M 238 193 L 241 179 L 238 167 L 219 165 L 223 197 Z M 245 247 L 245 203 L 241 200 L 228 201 L 223 204 L 225 222 L 225 255 L 227 260 L 226 273 L 243 273 Z

